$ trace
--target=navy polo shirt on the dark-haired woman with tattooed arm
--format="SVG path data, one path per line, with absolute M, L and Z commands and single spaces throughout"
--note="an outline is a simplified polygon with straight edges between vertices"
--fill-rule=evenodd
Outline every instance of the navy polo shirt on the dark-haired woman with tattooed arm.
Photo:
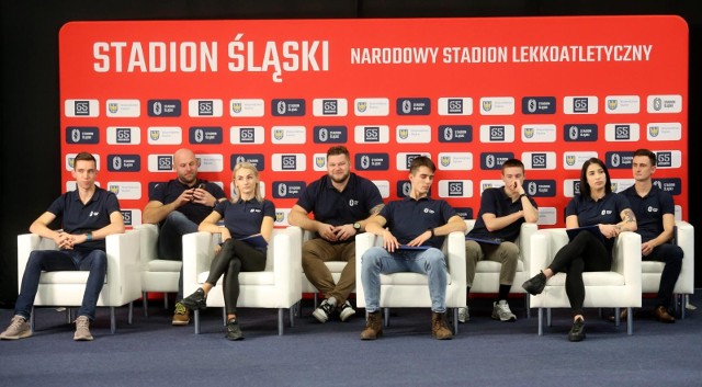
M 580 227 L 599 224 L 615 225 L 622 221 L 619 214 L 625 208 L 631 208 L 631 205 L 624 195 L 610 192 L 596 202 L 589 196 L 584 197 L 578 194 L 568 202 L 566 217 L 577 215 L 578 226 Z M 607 249 L 612 250 L 614 238 L 604 238 L 604 242 Z

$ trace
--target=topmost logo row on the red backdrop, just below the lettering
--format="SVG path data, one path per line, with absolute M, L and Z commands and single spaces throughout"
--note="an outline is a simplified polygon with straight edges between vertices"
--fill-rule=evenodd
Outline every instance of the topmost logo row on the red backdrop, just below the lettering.
M 484 96 L 477 103 L 480 115 L 513 115 L 516 111 L 513 96 Z M 597 114 L 599 98 L 565 96 L 563 98 L 564 114 Z M 180 117 L 183 113 L 181 100 L 148 100 L 147 113 L 149 117 Z M 222 117 L 224 101 L 219 99 L 188 100 L 188 116 L 190 117 Z M 432 100 L 429 98 L 398 98 L 395 100 L 397 115 L 430 115 Z M 262 117 L 265 115 L 265 101 L 262 99 L 229 100 L 228 114 L 231 117 Z M 641 112 L 638 95 L 608 95 L 602 109 L 607 114 L 637 114 Z M 273 99 L 270 101 L 272 116 L 305 116 L 307 101 L 304 99 Z M 387 98 L 359 98 L 353 100 L 353 115 L 355 116 L 388 116 L 390 100 Z M 439 115 L 472 115 L 474 100 L 471 96 L 439 98 L 437 100 Z M 555 96 L 523 96 L 521 113 L 556 114 L 558 111 Z M 646 96 L 647 113 L 680 113 L 682 111 L 681 95 L 648 95 Z M 67 117 L 99 117 L 100 102 L 98 100 L 65 100 L 64 114 Z M 312 114 L 316 117 L 349 115 L 349 101 L 343 98 L 314 99 Z M 105 115 L 107 117 L 139 117 L 141 116 L 140 100 L 106 100 Z

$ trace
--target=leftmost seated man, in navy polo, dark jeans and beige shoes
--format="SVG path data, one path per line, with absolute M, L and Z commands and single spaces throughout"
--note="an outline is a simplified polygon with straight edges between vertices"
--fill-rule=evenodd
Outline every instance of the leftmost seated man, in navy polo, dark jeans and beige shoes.
M 73 340 L 90 341 L 90 321 L 95 318 L 95 306 L 107 273 L 105 237 L 124 232 L 120 203 L 114 193 L 95 185 L 98 163 L 88 152 L 76 155 L 73 171 L 76 191 L 59 196 L 42 214 L 30 231 L 53 239 L 59 250 L 35 250 L 30 254 L 22 276 L 20 296 L 14 305 L 10 327 L 0 339 L 16 340 L 32 335 L 27 320 L 39 286 L 42 272 L 89 271 L 83 300 L 78 309 Z M 61 217 L 63 229 L 54 231 L 48 226 Z

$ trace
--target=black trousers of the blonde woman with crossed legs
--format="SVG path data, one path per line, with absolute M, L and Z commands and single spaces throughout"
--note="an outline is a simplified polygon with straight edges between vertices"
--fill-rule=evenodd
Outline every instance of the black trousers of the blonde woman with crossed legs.
M 227 239 L 210 265 L 207 283 L 216 285 L 224 275 L 224 304 L 228 315 L 237 312 L 239 273 L 261 272 L 265 269 L 265 250 L 257 250 L 247 242 Z

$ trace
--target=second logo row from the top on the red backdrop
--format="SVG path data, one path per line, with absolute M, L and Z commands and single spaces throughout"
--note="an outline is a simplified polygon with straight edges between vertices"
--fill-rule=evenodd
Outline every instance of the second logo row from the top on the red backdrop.
M 648 123 L 645 138 L 649 141 L 678 141 L 682 138 L 680 123 Z M 315 144 L 348 144 L 353 137 L 355 144 L 388 144 L 390 127 L 387 125 L 358 125 L 349 133 L 343 125 L 314 126 L 312 129 Z M 473 125 L 439 125 L 437 130 L 430 125 L 398 125 L 395 128 L 397 144 L 430 144 L 434 136 L 439 143 L 473 143 Z M 602 133 L 603 132 L 603 133 Z M 146 143 L 149 145 L 181 145 L 183 137 L 189 144 L 224 144 L 225 129 L 220 126 L 193 126 L 184 135 L 179 126 L 150 126 L 147 128 Z M 305 126 L 273 126 L 270 134 L 263 126 L 231 126 L 228 130 L 229 144 L 260 145 L 270 144 L 306 144 L 308 130 Z M 602 135 L 605 141 L 639 141 L 642 128 L 637 123 L 605 124 L 604 130 L 597 124 L 565 124 L 561 129 L 554 124 L 526 124 L 521 128 L 514 125 L 480 125 L 478 128 L 480 143 L 555 143 L 598 141 Z M 66 144 L 100 144 L 100 128 L 97 126 L 67 126 Z M 109 145 L 141 144 L 141 128 L 138 126 L 109 126 L 106 129 Z

